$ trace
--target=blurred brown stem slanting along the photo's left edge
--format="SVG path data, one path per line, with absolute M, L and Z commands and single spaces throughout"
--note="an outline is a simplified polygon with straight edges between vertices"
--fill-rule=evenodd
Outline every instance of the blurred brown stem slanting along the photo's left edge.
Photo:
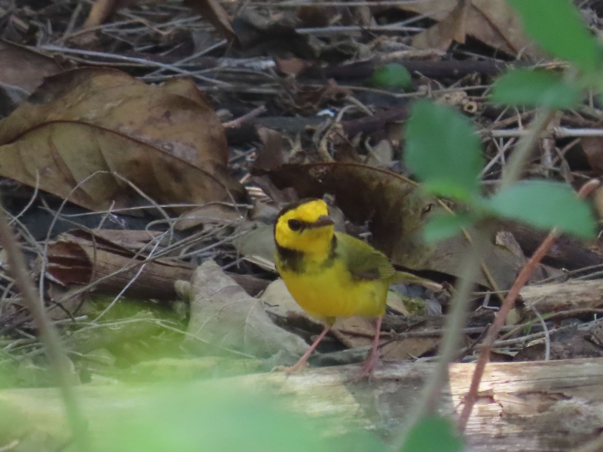
M 74 388 L 71 386 L 68 358 L 63 352 L 61 341 L 51 321 L 46 316 L 42 299 L 37 297 L 35 286 L 31 281 L 23 253 L 19 249 L 16 237 L 8 225 L 4 213 L 0 209 L 0 245 L 7 253 L 8 267 L 13 274 L 15 284 L 21 290 L 23 303 L 30 310 L 34 324 L 42 337 L 46 348 L 46 355 L 58 383 L 69 427 L 74 438 L 74 444 L 81 452 L 90 450 L 87 435 L 87 422 L 81 412 Z

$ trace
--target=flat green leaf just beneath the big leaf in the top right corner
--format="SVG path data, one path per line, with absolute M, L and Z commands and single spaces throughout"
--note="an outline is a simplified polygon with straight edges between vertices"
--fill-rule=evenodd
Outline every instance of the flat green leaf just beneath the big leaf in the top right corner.
M 561 75 L 550 71 L 518 69 L 497 78 L 492 87 L 494 102 L 511 105 L 546 105 L 569 108 L 577 104 L 581 90 L 575 84 L 561 80 Z

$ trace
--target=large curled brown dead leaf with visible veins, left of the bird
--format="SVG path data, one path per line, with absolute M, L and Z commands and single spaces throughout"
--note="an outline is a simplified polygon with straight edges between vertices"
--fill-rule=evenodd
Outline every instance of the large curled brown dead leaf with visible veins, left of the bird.
M 39 174 L 40 189 L 92 210 L 139 206 L 124 179 L 159 203 L 242 199 L 227 159 L 218 116 L 183 79 L 154 87 L 114 69 L 75 69 L 47 78 L 0 121 L 0 175 L 34 186 Z

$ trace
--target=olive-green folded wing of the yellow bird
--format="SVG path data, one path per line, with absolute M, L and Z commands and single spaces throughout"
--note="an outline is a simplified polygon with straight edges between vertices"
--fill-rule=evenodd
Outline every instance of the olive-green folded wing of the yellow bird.
M 346 262 L 347 269 L 359 280 L 390 280 L 396 269 L 385 254 L 375 250 L 362 240 L 344 233 L 335 233 L 336 253 Z

